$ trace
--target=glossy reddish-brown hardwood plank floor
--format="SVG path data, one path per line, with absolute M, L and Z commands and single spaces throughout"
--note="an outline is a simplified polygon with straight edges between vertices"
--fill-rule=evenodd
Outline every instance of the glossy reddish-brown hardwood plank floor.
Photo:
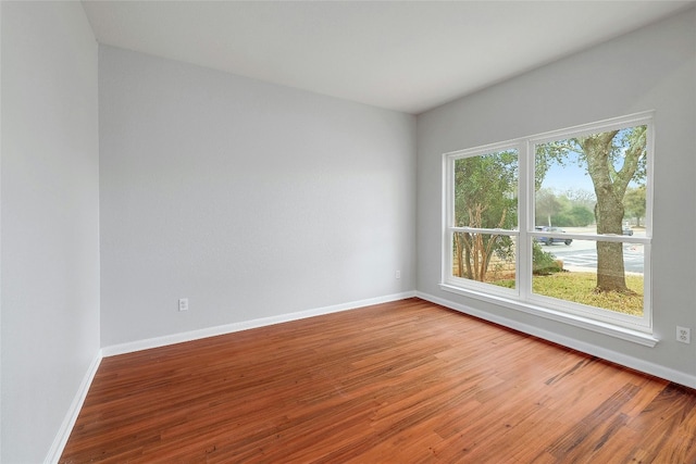
M 102 361 L 62 463 L 695 463 L 696 392 L 409 299 Z

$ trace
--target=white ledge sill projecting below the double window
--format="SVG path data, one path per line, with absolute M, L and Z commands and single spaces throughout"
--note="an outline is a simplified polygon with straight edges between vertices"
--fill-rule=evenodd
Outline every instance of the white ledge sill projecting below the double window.
M 500 306 L 509 308 L 512 310 L 522 311 L 527 314 L 560 322 L 574 327 L 581 327 L 586 330 L 592 330 L 598 334 L 607 335 L 609 337 L 618 338 L 625 341 L 631 341 L 637 344 L 643 344 L 649 348 L 654 348 L 659 341 L 651 334 L 630 329 L 626 327 L 616 326 L 616 325 L 604 323 L 600 321 L 594 321 L 594 319 L 582 317 L 575 314 L 568 314 L 561 311 L 555 311 L 549 308 L 543 308 L 534 304 L 523 303 L 520 301 L 514 301 L 508 298 L 484 293 L 476 290 L 463 289 L 463 288 L 456 287 L 448 284 L 440 284 L 439 287 L 440 289 L 445 291 L 449 291 L 451 293 L 457 293 L 457 294 L 461 294 L 463 297 L 469 297 L 469 298 L 475 298 L 477 300 L 486 301 L 488 303 L 494 303 L 494 304 L 498 304 Z

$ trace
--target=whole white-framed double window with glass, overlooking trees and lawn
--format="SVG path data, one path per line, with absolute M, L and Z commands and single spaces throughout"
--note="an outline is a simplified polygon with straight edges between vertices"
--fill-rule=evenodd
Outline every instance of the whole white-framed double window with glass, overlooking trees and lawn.
M 648 113 L 446 153 L 443 288 L 650 334 L 651 162 Z

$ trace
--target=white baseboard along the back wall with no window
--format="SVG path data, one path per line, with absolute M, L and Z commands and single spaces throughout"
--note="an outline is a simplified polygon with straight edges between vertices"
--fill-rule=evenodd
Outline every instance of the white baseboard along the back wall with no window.
M 366 300 L 352 301 L 349 303 L 335 304 L 332 306 L 315 308 L 313 310 L 299 311 L 295 313 L 281 314 L 271 317 L 261 317 L 258 319 L 244 321 L 239 323 L 226 324 L 215 327 L 208 327 L 198 330 L 190 330 L 181 334 L 173 334 L 163 337 L 149 338 L 145 340 L 130 341 L 127 343 L 113 344 L 101 349 L 104 358 L 115 356 L 119 354 L 133 353 L 152 348 L 166 347 L 169 344 L 183 343 L 186 341 L 199 340 L 201 338 L 215 337 L 219 335 L 233 334 L 235 331 L 248 330 L 252 328 L 265 327 L 274 324 L 282 324 L 290 321 L 303 319 L 307 317 L 321 316 L 324 314 L 337 313 L 340 311 L 355 310 L 358 308 L 370 306 L 372 304 L 388 303 L 390 301 L 403 300 L 415 297 L 415 291 L 407 291 L 402 293 L 394 293 L 384 297 L 371 298 Z

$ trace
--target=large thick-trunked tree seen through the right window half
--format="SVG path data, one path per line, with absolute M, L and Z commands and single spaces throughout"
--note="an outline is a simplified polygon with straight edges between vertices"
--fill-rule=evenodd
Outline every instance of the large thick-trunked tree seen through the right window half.
M 593 181 L 597 233 L 621 235 L 626 189 L 646 176 L 646 136 L 647 126 L 636 126 L 559 140 L 537 146 L 537 159 L 562 164 L 562 154 L 576 155 Z M 596 291 L 630 292 L 621 242 L 597 241 Z

